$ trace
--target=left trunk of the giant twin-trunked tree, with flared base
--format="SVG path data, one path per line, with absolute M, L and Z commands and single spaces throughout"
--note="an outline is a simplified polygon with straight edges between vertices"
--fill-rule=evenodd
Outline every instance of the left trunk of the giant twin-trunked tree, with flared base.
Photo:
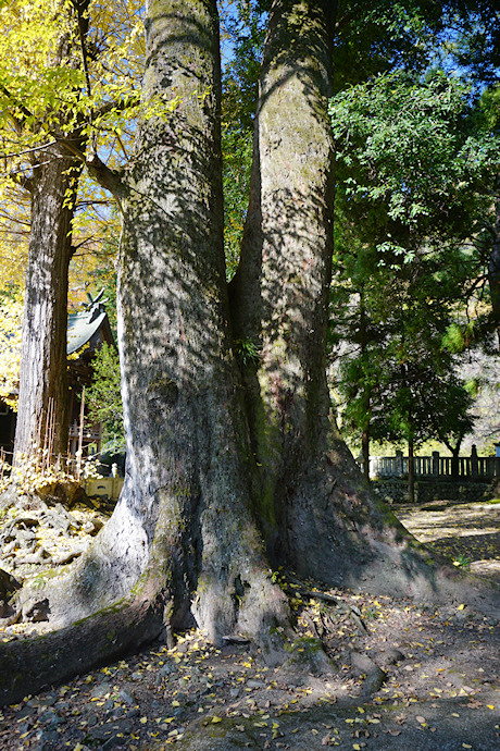
M 116 188 L 125 485 L 76 571 L 24 592 L 23 611 L 47 596 L 66 626 L 123 600 L 124 633 L 132 608 L 147 639 L 196 618 L 215 642 L 238 631 L 265 644 L 288 606 L 253 519 L 228 325 L 215 0 L 150 2 L 146 29 L 145 98 L 178 106 L 141 124 Z M 96 628 L 72 638 L 83 647 Z

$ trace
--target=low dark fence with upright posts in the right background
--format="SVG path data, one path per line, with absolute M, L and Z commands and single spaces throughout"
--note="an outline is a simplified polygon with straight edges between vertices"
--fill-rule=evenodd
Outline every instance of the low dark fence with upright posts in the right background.
M 408 457 L 402 452 L 396 456 L 374 456 L 370 459 L 370 477 L 404 477 L 408 476 Z M 500 477 L 500 457 L 477 456 L 475 451 L 471 456 L 440 456 L 434 452 L 432 456 L 415 456 L 413 459 L 415 478 L 478 478 L 492 479 Z

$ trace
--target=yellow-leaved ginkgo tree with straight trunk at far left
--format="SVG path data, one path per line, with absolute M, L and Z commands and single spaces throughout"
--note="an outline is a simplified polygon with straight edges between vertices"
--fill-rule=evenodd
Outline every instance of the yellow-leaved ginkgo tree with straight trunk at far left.
M 143 53 L 140 12 L 134 0 L 117 12 L 90 0 L 0 8 L 0 200 L 12 205 L 22 190 L 30 204 L 16 453 L 40 446 L 50 402 L 54 452 L 66 448 L 67 276 L 80 244 L 75 231 L 84 229 L 82 155 L 101 147 L 111 162 L 126 156 L 124 112 L 137 114 Z

